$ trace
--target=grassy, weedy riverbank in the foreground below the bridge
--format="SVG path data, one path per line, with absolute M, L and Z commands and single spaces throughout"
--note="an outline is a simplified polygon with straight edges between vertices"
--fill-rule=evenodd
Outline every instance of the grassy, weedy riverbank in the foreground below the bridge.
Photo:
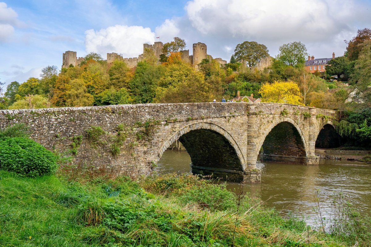
M 197 176 L 0 178 L 0 246 L 347 246 Z

